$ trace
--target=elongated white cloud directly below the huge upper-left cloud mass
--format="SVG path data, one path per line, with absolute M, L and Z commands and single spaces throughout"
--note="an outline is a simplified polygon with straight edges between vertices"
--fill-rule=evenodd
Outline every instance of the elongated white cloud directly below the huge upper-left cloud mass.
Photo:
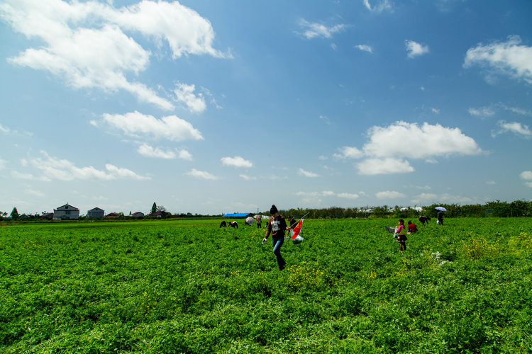
M 125 115 L 106 113 L 103 117 L 104 122 L 133 137 L 151 135 L 155 139 L 168 139 L 177 142 L 203 139 L 199 130 L 196 130 L 192 124 L 178 118 L 176 115 L 168 115 L 157 119 L 153 115 L 144 115 L 135 111 Z

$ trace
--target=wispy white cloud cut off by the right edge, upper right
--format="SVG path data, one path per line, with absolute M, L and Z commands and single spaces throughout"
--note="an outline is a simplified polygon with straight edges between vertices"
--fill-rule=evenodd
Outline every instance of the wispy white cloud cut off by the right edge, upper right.
M 532 47 L 520 45 L 519 35 L 510 35 L 506 42 L 479 44 L 467 50 L 464 67 L 480 65 L 489 74 L 499 72 L 532 84 Z

